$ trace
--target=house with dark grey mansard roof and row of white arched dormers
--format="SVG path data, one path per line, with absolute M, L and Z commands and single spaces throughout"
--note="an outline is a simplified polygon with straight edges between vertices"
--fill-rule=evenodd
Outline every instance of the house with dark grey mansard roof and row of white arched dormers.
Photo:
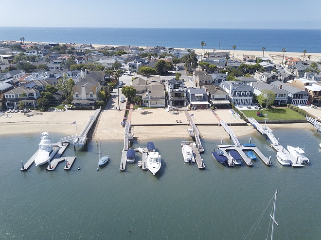
M 220 87 L 229 94 L 229 101 L 235 105 L 251 105 L 253 87 L 237 81 L 223 81 Z

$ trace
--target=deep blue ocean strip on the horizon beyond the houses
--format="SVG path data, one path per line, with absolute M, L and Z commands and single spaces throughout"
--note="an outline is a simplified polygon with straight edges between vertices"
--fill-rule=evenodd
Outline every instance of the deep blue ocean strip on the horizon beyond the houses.
M 0 27 L 0 40 L 321 53 L 321 30 Z M 220 44 L 219 44 L 220 43 Z

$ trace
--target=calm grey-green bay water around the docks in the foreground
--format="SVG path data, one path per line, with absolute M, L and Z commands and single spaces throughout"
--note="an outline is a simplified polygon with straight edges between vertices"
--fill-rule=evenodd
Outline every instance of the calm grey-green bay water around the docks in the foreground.
M 162 157 L 156 176 L 137 167 L 140 154 L 136 164 L 119 171 L 123 141 L 102 142 L 111 160 L 100 171 L 98 147 L 89 143 L 87 151 L 66 150 L 65 156 L 76 155 L 70 171 L 60 163 L 51 172 L 34 165 L 20 172 L 20 160 L 34 154 L 39 134 L 2 137 L 0 239 L 244 239 L 276 188 L 281 192 L 275 239 L 320 239 L 321 135 L 303 129 L 276 129 L 274 134 L 284 146 L 305 144 L 311 165 L 282 166 L 270 142 L 255 133 L 239 139 L 247 143 L 251 137 L 272 156 L 273 166 L 257 160 L 252 168 L 224 167 L 211 156 L 220 140 L 206 140 L 206 170 L 198 170 L 196 164 L 183 163 L 180 141 L 188 139 L 155 139 Z M 60 137 L 54 136 L 54 142 Z M 266 238 L 268 222 L 266 214 L 252 239 Z

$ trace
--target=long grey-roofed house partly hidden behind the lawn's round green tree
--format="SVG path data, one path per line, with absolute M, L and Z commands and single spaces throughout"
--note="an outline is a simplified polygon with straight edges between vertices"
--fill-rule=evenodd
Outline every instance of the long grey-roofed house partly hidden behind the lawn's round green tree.
M 270 90 L 275 93 L 274 105 L 285 105 L 287 103 L 288 93 L 285 92 L 282 88 L 278 88 L 261 81 L 250 82 L 249 85 L 254 88 L 253 93 L 256 96 L 261 95 L 263 90 Z

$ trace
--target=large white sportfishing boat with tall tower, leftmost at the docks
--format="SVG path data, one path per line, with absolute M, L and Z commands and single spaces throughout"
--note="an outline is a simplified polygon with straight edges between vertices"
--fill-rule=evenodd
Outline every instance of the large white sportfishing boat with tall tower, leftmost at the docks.
M 38 154 L 35 158 L 36 166 L 48 163 L 52 160 L 58 151 L 58 147 L 53 147 L 50 141 L 49 133 L 41 133 L 41 140 L 39 144 Z

